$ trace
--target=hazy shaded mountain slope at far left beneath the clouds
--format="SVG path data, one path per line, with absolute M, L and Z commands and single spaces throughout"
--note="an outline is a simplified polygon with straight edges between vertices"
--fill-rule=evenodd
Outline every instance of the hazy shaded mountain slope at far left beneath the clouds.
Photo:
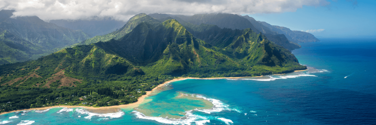
M 38 17 L 10 18 L 13 12 L 0 11 L 0 64 L 36 59 L 89 38 L 80 30 L 59 27 Z

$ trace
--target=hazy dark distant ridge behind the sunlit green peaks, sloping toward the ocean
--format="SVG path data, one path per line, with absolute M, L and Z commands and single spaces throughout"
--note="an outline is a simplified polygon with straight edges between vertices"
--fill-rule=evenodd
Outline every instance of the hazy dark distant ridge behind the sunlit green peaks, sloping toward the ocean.
M 165 21 L 168 19 L 176 19 L 185 27 L 189 27 L 192 30 L 201 30 L 199 27 L 201 24 L 211 24 L 211 26 L 217 26 L 221 29 L 229 28 L 232 30 L 243 30 L 243 29 L 252 29 L 255 32 L 262 32 L 264 35 L 275 44 L 287 48 L 288 50 L 294 50 L 300 48 L 299 44 L 289 41 L 284 35 L 278 35 L 276 32 L 271 31 L 268 27 L 263 26 L 260 23 L 254 25 L 252 20 L 247 20 L 246 18 L 235 15 L 235 14 L 196 14 L 193 16 L 184 16 L 184 15 L 169 15 L 169 14 L 150 14 L 149 16 L 160 20 Z M 251 17 L 252 18 L 252 17 Z M 256 21 L 257 22 L 257 21 Z M 210 25 L 209 25 L 210 26 Z M 197 29 L 199 28 L 199 29 Z M 190 31 L 191 32 L 191 31 Z M 199 39 L 202 39 L 199 35 L 200 33 L 193 33 L 193 35 Z M 204 33 L 209 35 L 207 33 Z

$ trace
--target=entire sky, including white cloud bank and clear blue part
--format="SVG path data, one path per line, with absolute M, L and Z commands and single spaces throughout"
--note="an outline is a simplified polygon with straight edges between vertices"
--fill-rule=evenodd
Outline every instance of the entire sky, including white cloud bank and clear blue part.
M 14 17 L 38 16 L 44 21 L 231 13 L 322 38 L 376 38 L 376 0 L 0 0 L 1 9 L 16 10 Z

